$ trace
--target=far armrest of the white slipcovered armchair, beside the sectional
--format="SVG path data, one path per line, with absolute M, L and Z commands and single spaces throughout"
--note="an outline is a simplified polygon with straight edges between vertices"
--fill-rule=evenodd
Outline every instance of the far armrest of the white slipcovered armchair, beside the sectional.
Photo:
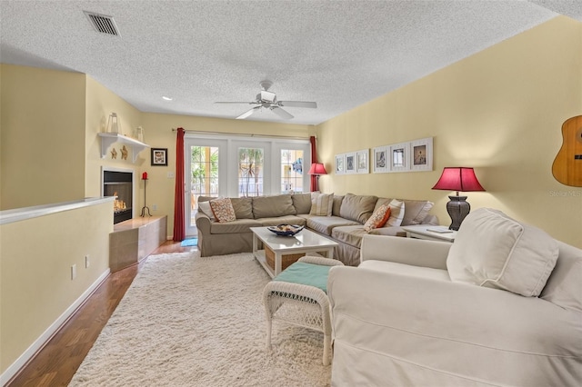
M 447 270 L 447 255 L 452 245 L 396 236 L 364 235 L 360 262 L 389 261 Z

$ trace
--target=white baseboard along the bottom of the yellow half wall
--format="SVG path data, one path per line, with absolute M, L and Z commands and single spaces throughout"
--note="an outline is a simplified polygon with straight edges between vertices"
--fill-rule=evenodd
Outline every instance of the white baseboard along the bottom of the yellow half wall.
M 83 304 L 87 301 L 87 299 L 97 290 L 97 288 L 105 281 L 105 279 L 109 276 L 111 271 L 107 268 L 107 270 L 102 273 L 99 278 L 96 279 L 95 283 L 92 283 L 91 286 L 85 290 L 83 294 L 79 298 L 75 300 L 75 303 L 72 303 L 68 308 L 66 308 L 65 312 L 61 314 L 54 323 L 52 323 L 48 328 L 46 328 L 45 332 L 41 334 L 35 342 L 33 342 L 23 354 L 21 354 L 15 362 L 13 362 L 5 372 L 0 375 L 0 385 L 5 386 L 8 382 L 11 382 L 12 379 L 22 370 L 25 365 L 30 362 L 40 350 L 42 350 L 46 343 L 49 342 L 56 332 L 58 332 L 63 325 L 75 314 L 77 309 L 79 309 Z

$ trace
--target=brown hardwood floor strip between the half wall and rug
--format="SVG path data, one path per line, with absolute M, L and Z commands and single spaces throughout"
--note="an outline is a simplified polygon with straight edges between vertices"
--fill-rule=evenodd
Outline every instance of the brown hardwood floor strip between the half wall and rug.
M 183 253 L 196 249 L 181 247 L 179 242 L 168 241 L 157 248 L 154 254 Z M 66 386 L 134 281 L 138 270 L 137 265 L 134 265 L 111 273 L 6 386 Z

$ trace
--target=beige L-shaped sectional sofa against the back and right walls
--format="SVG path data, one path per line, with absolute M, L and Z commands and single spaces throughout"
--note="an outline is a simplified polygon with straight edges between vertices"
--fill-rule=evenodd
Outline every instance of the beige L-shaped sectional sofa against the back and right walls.
M 377 208 L 392 201 L 373 195 L 334 195 L 331 214 L 320 216 L 309 214 L 312 206 L 310 193 L 230 198 L 236 220 L 219 223 L 204 211 L 200 211 L 200 203 L 212 199 L 215 198 L 198 198 L 196 227 L 198 249 L 202 256 L 251 252 L 251 227 L 287 223 L 305 225 L 307 229 L 336 241 L 338 246 L 334 252 L 335 258 L 351 266 L 359 263 L 360 243 L 362 236 L 366 234 L 364 224 Z M 437 217 L 428 214 L 432 203 L 424 200 L 401 201 L 404 202 L 404 217 L 400 225 L 438 224 Z M 400 226 L 388 226 L 370 233 L 396 235 L 402 232 Z

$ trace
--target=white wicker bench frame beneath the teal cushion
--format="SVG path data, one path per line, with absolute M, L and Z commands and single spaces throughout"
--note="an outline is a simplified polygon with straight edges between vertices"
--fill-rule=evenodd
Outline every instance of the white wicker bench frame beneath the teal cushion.
M 320 266 L 342 265 L 340 261 L 323 258 L 321 256 L 305 256 L 299 258 L 297 263 L 311 263 Z M 296 263 L 293 263 L 296 264 Z M 293 266 L 293 265 L 292 265 Z M 291 270 L 310 271 L 308 265 L 296 266 Z M 318 270 L 317 283 L 327 282 L 327 272 Z M 308 277 L 308 275 L 306 276 Z M 331 320 L 329 316 L 329 300 L 324 290 L 310 281 L 303 283 L 286 282 L 286 271 L 267 283 L 263 292 L 263 303 L 266 310 L 266 346 L 271 348 L 271 328 L 273 320 L 281 320 L 324 333 L 323 363 L 328 365 L 331 357 Z M 302 278 L 304 278 L 302 276 Z M 325 288 L 325 285 L 323 286 Z

